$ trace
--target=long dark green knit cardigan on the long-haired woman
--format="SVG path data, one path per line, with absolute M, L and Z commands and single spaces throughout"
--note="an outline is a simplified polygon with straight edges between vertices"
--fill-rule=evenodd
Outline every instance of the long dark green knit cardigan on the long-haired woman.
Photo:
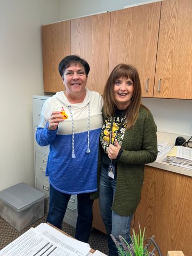
M 156 132 L 153 115 L 141 106 L 134 126 L 125 131 L 123 152 L 117 163 L 116 192 L 111 210 L 119 215 L 129 216 L 137 209 L 141 198 L 145 164 L 154 162 L 157 157 Z M 100 165 L 99 156 L 98 181 Z M 97 196 L 98 191 L 93 193 L 91 198 L 95 199 Z

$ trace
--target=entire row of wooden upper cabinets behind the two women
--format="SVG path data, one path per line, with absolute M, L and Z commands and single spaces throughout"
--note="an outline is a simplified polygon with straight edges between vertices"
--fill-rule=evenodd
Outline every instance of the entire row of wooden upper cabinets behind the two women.
M 139 71 L 142 97 L 192 99 L 192 1 L 165 0 L 42 26 L 44 92 L 64 86 L 66 55 L 89 62 L 87 87 L 102 94 L 119 63 Z

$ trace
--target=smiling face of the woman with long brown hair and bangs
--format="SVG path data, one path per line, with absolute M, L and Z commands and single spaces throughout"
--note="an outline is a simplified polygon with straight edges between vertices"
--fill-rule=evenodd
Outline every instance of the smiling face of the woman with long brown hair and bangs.
M 120 77 L 114 85 L 114 97 L 118 109 L 125 109 L 130 105 L 133 96 L 133 81 L 130 78 Z

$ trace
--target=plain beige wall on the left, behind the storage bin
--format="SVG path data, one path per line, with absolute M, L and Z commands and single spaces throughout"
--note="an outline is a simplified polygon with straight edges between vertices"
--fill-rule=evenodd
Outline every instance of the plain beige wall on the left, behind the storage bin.
M 0 190 L 34 186 L 32 95 L 43 94 L 41 25 L 55 0 L 0 0 Z

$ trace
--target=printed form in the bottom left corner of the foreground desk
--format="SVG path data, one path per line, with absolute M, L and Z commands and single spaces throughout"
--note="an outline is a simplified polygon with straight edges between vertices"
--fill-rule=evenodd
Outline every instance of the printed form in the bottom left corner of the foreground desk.
M 30 228 L 0 251 L 0 256 L 76 256 L 63 249 L 38 230 Z

